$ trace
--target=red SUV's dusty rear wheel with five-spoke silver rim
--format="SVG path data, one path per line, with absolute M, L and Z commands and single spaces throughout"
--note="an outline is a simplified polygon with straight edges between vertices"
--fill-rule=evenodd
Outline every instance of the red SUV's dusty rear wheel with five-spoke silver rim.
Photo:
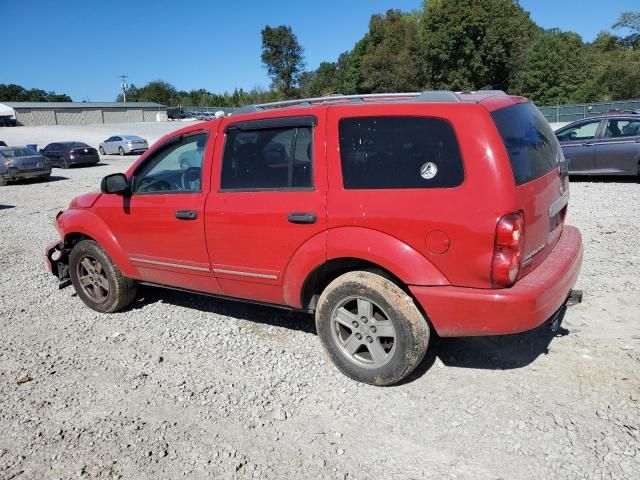
M 338 370 L 371 385 L 407 377 L 429 345 L 429 325 L 412 298 L 371 272 L 345 273 L 325 288 L 316 328 Z

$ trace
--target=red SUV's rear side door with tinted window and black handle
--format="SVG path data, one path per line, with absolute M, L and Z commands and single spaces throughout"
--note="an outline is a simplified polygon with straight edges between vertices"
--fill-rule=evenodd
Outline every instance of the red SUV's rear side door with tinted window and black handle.
M 294 254 L 315 237 L 325 258 L 324 117 L 292 113 L 221 123 L 224 148 L 216 150 L 205 228 L 225 295 L 286 304 Z

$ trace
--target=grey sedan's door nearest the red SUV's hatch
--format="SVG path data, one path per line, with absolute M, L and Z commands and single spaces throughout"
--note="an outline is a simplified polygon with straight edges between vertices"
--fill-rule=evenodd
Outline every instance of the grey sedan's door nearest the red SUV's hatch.
M 562 152 L 569 162 L 569 173 L 593 173 L 596 168 L 594 140 L 600 131 L 601 120 L 572 124 L 556 132 Z

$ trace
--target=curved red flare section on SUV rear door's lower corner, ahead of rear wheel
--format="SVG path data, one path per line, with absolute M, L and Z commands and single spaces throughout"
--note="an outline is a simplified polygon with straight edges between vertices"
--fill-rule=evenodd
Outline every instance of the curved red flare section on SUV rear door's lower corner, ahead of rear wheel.
M 293 254 L 283 277 L 284 302 L 300 308 L 300 292 L 309 274 L 327 261 L 328 231 L 320 232 L 305 243 Z

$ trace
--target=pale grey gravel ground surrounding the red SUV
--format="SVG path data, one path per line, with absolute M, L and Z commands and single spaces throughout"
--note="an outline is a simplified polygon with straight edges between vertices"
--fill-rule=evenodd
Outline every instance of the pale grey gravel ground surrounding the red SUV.
M 563 328 L 443 339 L 348 380 L 310 316 L 144 288 L 59 291 L 55 213 L 133 160 L 0 189 L 0 478 L 640 478 L 640 184 L 572 183 L 584 302 Z

